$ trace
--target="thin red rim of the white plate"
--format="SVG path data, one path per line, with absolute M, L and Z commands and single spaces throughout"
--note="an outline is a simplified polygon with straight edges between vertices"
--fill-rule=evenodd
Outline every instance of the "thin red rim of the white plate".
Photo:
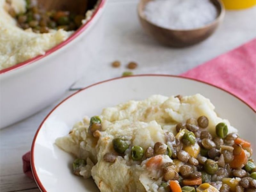
M 34 163 L 34 147 L 35 147 L 35 142 L 36 142 L 36 138 L 37 138 L 37 135 L 40 131 L 40 129 L 42 128 L 42 125 L 44 124 L 44 122 L 46 121 L 46 119 L 52 114 L 52 112 L 58 108 L 62 103 L 64 103 L 66 100 L 68 100 L 69 98 L 73 97 L 74 95 L 76 95 L 77 93 L 85 90 L 85 89 L 88 89 L 92 86 L 95 86 L 95 85 L 98 85 L 98 84 L 102 84 L 102 83 L 106 83 L 106 82 L 109 82 L 109 81 L 113 81 L 113 80 L 116 80 L 116 79 L 122 79 L 122 78 L 132 78 L 132 77 L 140 77 L 140 76 L 163 76 L 163 77 L 176 77 L 176 78 L 183 78 L 183 79 L 188 79 L 188 80 L 193 80 L 193 81 L 196 81 L 196 82 L 200 82 L 200 83 L 203 83 L 203 84 L 207 84 L 207 85 L 210 85 L 212 87 L 215 87 L 215 88 L 218 88 L 224 92 L 227 92 L 229 93 L 230 95 L 236 97 L 238 100 L 240 100 L 241 102 L 243 102 L 245 105 L 247 105 L 249 108 L 252 109 L 252 111 L 254 113 L 256 113 L 256 111 L 248 104 L 246 103 L 244 100 L 240 99 L 239 97 L 237 97 L 236 95 L 234 95 L 233 93 L 231 92 L 228 92 L 227 90 L 225 89 L 222 89 L 221 87 L 218 87 L 216 85 L 212 85 L 210 83 L 207 83 L 207 82 L 204 82 L 204 81 L 201 81 L 201 80 L 198 80 L 198 79 L 194 79 L 194 78 L 190 78 L 190 77 L 183 77 L 183 76 L 175 76 L 175 75 L 157 75 L 157 74 L 143 74 L 143 75 L 134 75 L 134 76 L 126 76 L 126 77 L 116 77 L 116 78 L 112 78 L 112 79 L 108 79 L 108 80 L 105 80 L 105 81 L 101 81 L 101 82 L 98 82 L 98 83 L 95 83 L 95 84 L 92 84 L 92 85 L 89 85 L 83 89 L 80 89 L 79 91 L 71 94 L 70 96 L 68 96 L 66 99 L 62 100 L 57 106 L 55 106 L 52 111 L 44 118 L 43 122 L 40 124 L 39 128 L 37 129 L 36 131 L 36 134 L 35 134 L 35 137 L 33 139 L 33 142 L 32 142 L 32 146 L 31 146 L 31 157 L 30 157 L 30 162 L 31 162 L 31 170 L 32 170 L 32 173 L 33 173 L 33 176 L 34 176 L 34 179 L 36 181 L 36 184 L 37 186 L 39 187 L 39 189 L 43 192 L 47 192 L 46 189 L 44 188 L 42 182 L 40 181 L 38 175 L 37 175 L 37 172 L 36 172 L 36 167 L 35 167 L 35 163 Z

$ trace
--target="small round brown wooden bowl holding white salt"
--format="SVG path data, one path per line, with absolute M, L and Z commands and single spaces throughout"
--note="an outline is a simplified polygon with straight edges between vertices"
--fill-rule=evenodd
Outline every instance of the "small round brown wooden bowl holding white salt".
M 144 7 L 149 1 L 152 0 L 140 0 L 138 5 L 140 23 L 144 30 L 149 35 L 153 36 L 159 43 L 171 47 L 186 47 L 205 40 L 207 37 L 212 35 L 225 15 L 225 8 L 222 2 L 220 0 L 211 0 L 218 11 L 218 16 L 214 21 L 212 21 L 212 23 L 195 29 L 180 30 L 163 28 L 151 23 L 146 19 Z

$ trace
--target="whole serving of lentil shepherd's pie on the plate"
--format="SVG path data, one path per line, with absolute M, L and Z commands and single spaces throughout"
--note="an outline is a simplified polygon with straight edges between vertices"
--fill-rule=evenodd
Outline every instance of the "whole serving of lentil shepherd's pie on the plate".
M 209 99 L 153 95 L 85 117 L 56 144 L 101 192 L 255 192 L 250 142 Z

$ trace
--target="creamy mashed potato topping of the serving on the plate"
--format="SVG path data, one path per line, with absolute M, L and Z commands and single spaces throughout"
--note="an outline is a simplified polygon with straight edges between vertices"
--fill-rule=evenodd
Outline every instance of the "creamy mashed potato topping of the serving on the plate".
M 173 169 L 177 171 L 184 165 L 184 162 L 173 159 L 168 153 L 147 157 L 147 152 L 154 148 L 156 143 L 166 143 L 158 150 L 167 150 L 168 152 L 169 146 L 172 146 L 175 141 L 169 140 L 167 135 L 177 134 L 178 123 L 186 123 L 187 119 L 197 119 L 200 116 L 208 118 L 209 123 L 204 130 L 213 136 L 216 136 L 215 126 L 220 122 L 224 122 L 228 126 L 228 133 L 236 132 L 228 120 L 221 119 L 216 115 L 210 100 L 200 94 L 180 99 L 174 96 L 168 98 L 162 95 L 153 95 L 145 100 L 131 100 L 115 107 L 103 109 L 99 116 L 101 119 L 100 131 L 96 130 L 92 133 L 89 130 L 90 119 L 85 117 L 83 121 L 74 125 L 68 136 L 58 138 L 56 144 L 77 158 L 92 161 L 93 165 L 89 164 L 88 170 L 80 171 L 80 175 L 85 178 L 92 176 L 102 192 L 164 191 L 161 184 L 163 180 L 167 179 L 165 171 L 160 167 L 166 164 L 175 164 Z M 179 134 L 181 135 L 181 133 Z M 106 154 L 116 154 L 113 145 L 115 138 L 122 138 L 129 147 L 122 155 L 116 155 L 113 160 L 108 158 L 106 161 Z M 142 155 L 140 160 L 131 158 L 132 146 L 140 146 L 140 150 L 143 149 L 144 156 Z M 195 146 L 198 145 L 195 144 Z M 184 150 L 186 148 L 189 146 L 184 147 Z M 155 148 L 154 150 L 156 153 Z M 138 154 L 134 153 L 134 155 L 136 157 Z M 152 164 L 156 161 L 156 164 Z

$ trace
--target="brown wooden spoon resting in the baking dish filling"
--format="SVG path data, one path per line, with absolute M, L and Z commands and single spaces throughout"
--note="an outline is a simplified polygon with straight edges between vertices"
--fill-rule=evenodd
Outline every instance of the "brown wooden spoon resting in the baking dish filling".
M 88 9 L 92 9 L 97 0 L 38 0 L 38 4 L 45 10 L 62 10 L 84 14 Z

